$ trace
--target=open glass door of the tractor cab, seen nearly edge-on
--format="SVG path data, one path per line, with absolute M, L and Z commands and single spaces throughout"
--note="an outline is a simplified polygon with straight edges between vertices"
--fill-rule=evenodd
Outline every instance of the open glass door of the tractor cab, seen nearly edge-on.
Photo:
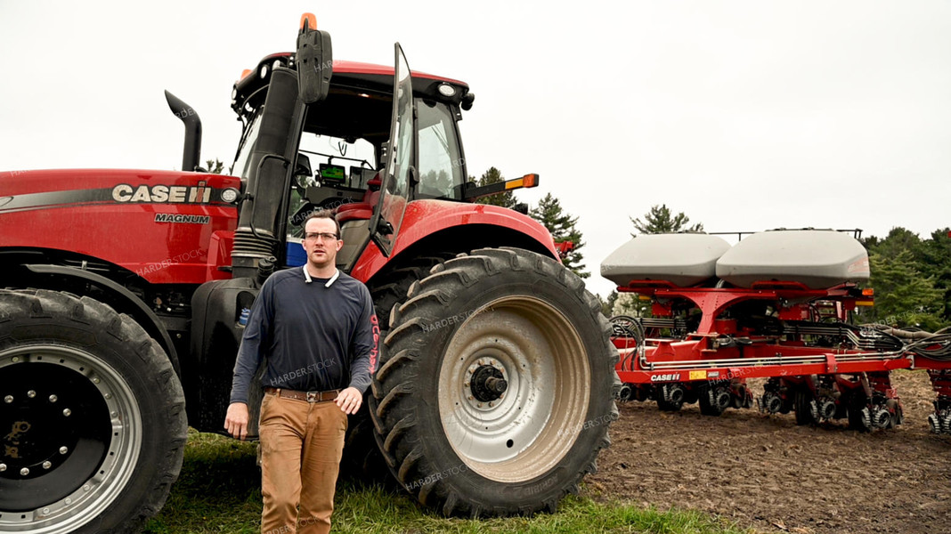
M 417 180 L 416 108 L 413 99 L 413 78 L 406 55 L 399 43 L 395 46 L 396 66 L 393 77 L 393 114 L 390 122 L 390 143 L 386 153 L 379 199 L 370 220 L 372 238 L 383 256 L 389 256 L 399 234 L 410 191 Z

